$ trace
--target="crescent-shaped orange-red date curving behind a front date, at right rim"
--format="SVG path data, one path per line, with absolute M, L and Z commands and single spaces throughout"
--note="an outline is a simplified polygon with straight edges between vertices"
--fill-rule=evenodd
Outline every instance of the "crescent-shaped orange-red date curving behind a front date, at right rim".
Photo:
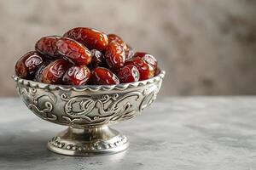
M 125 62 L 125 65 L 134 65 L 137 67 L 140 73 L 140 81 L 154 77 L 154 68 L 139 57 L 129 59 Z

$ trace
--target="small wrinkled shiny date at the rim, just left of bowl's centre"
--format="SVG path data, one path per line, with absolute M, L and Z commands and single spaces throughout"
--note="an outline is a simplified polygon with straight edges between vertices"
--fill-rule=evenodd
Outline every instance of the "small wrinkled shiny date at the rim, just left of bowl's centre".
M 90 69 L 85 65 L 70 67 L 62 78 L 62 82 L 71 85 L 85 85 L 90 79 Z

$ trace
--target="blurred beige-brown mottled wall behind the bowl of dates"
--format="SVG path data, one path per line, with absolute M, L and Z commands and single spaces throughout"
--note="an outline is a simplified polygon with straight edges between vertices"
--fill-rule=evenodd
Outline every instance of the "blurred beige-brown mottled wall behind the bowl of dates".
M 255 19 L 253 0 L 0 0 L 0 96 L 15 95 L 15 60 L 39 37 L 74 26 L 154 54 L 161 94 L 256 94 Z

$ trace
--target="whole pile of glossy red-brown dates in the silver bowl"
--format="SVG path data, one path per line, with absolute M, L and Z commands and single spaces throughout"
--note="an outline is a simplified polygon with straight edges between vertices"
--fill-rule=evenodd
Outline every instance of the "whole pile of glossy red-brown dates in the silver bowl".
M 77 27 L 61 36 L 42 37 L 35 51 L 15 65 L 20 78 L 49 84 L 111 85 L 143 81 L 159 73 L 153 55 L 134 53 L 123 39 Z

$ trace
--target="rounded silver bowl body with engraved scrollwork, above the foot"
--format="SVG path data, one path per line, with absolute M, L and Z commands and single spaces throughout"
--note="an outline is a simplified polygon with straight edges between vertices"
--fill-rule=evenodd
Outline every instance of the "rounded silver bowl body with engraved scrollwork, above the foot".
M 159 92 L 161 77 L 122 89 L 93 92 L 83 89 L 38 87 L 36 82 L 17 81 L 17 91 L 27 107 L 40 118 L 71 127 L 97 127 L 131 119 L 151 105 Z M 35 83 L 35 85 L 33 84 Z M 130 86 L 130 85 L 129 85 Z

